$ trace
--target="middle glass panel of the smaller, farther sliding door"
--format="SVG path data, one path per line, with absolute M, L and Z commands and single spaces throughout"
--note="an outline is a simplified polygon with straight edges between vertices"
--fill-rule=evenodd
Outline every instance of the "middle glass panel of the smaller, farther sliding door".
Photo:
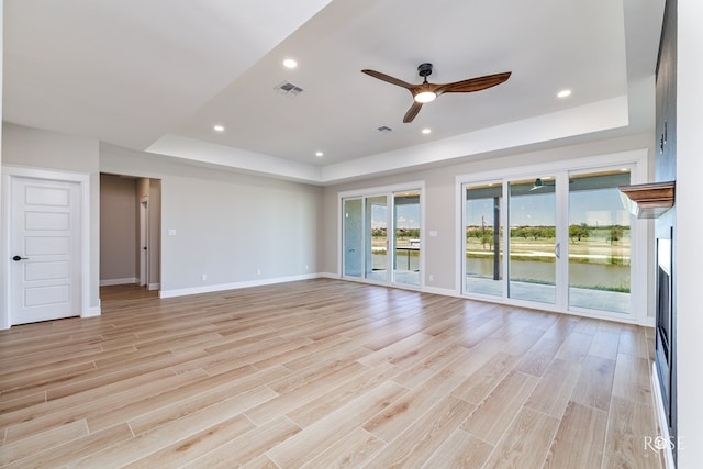
M 388 198 L 366 198 L 365 278 L 388 281 Z

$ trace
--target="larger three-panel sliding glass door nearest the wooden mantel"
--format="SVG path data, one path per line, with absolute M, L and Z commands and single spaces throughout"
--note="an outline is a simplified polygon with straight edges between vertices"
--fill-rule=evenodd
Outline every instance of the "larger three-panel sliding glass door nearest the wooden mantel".
M 631 170 L 466 182 L 462 292 L 554 310 L 631 312 Z

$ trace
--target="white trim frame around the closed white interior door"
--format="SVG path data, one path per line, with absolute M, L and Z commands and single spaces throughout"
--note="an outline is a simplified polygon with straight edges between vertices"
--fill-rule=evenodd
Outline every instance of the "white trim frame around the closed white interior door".
M 80 316 L 93 316 L 90 311 L 90 175 L 85 172 L 41 169 L 26 166 L 2 165 L 2 206 L 0 223 L 2 225 L 2 239 L 0 257 L 10 259 L 10 235 L 12 233 L 10 213 L 12 208 L 11 182 L 13 178 L 43 179 L 60 182 L 76 182 L 80 192 Z M 2 286 L 0 287 L 0 330 L 10 328 L 10 263 L 2 267 Z

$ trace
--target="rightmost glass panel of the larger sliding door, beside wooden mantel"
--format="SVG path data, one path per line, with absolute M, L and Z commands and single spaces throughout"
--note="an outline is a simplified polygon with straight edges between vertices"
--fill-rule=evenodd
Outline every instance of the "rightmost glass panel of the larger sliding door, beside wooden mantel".
M 569 177 L 569 306 L 627 313 L 631 216 L 618 186 L 629 170 Z

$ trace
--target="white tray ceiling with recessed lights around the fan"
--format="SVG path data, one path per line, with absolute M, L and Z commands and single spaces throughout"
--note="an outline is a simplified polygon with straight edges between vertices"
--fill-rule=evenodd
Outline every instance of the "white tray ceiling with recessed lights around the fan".
M 641 133 L 652 127 L 662 10 L 663 0 L 5 0 L 3 119 L 312 183 Z M 360 70 L 420 82 L 423 62 L 432 82 L 512 76 L 442 96 L 403 124 L 411 94 Z M 284 81 L 303 91 L 281 94 Z M 571 97 L 557 99 L 565 88 Z

